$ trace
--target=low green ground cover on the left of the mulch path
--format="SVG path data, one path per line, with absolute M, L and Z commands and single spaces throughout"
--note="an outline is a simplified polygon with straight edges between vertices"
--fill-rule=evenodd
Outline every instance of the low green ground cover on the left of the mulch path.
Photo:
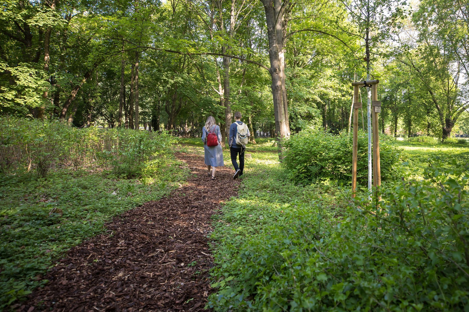
M 149 163 L 151 176 L 59 169 L 0 176 L 0 310 L 47 281 L 41 276 L 69 248 L 105 230 L 115 215 L 169 194 L 188 175 L 174 156 Z

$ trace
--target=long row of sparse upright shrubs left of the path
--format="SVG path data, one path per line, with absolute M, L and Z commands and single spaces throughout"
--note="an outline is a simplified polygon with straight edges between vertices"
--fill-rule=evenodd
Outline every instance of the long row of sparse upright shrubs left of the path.
M 140 177 L 145 162 L 168 152 L 174 137 L 148 131 L 79 129 L 57 120 L 0 117 L 0 171 L 101 166 L 118 177 Z

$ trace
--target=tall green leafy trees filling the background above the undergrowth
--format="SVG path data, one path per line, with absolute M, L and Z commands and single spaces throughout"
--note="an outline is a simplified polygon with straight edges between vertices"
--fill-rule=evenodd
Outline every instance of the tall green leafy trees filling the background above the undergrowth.
M 337 133 L 348 128 L 350 83 L 368 74 L 381 81 L 383 133 L 468 134 L 464 1 L 6 0 L 2 8 L 2 114 L 197 136 L 208 115 L 227 129 L 241 111 L 256 135 Z

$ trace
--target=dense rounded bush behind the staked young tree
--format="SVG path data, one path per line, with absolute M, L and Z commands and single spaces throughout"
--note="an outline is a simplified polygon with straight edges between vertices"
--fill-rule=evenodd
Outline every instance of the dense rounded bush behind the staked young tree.
M 347 134 L 333 135 L 325 132 L 300 132 L 286 141 L 286 153 L 282 162 L 290 178 L 296 182 L 314 179 L 352 180 L 352 137 Z M 380 141 L 381 179 L 400 177 L 400 150 Z M 368 177 L 368 137 L 358 134 L 357 183 L 365 184 Z

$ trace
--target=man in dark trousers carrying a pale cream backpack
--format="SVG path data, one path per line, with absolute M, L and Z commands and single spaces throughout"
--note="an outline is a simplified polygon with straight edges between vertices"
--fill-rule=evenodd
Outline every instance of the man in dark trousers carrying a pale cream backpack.
M 234 113 L 234 123 L 230 126 L 230 136 L 229 136 L 229 146 L 230 146 L 230 156 L 231 162 L 233 163 L 234 176 L 233 178 L 238 178 L 242 176 L 242 171 L 244 170 L 244 150 L 246 149 L 245 144 L 247 143 L 247 138 L 250 136 L 248 126 L 243 124 L 241 121 L 241 113 L 236 111 Z M 236 141 L 238 140 L 238 141 Z M 239 166 L 236 162 L 236 157 L 239 155 Z

